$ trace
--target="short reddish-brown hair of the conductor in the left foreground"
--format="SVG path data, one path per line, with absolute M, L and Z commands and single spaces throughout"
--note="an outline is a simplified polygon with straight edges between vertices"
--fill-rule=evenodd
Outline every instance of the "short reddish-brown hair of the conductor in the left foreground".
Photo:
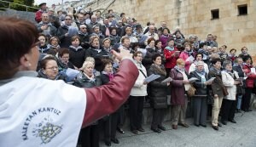
M 38 30 L 28 20 L 0 17 L 0 22 L 0 80 L 3 80 L 19 71 L 20 58 L 37 45 Z

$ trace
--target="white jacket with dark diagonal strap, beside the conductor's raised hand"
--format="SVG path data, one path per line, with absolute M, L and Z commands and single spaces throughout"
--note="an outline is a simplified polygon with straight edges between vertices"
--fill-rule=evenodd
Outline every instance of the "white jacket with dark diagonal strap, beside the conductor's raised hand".
M 136 65 L 137 65 L 137 69 L 139 70 L 139 76 L 137 76 L 137 80 L 136 80 L 133 88 L 131 88 L 130 95 L 131 96 L 146 96 L 146 95 L 148 95 L 147 85 L 144 85 L 143 82 L 144 82 L 145 76 L 147 76 L 147 71 L 146 71 L 146 68 L 142 64 L 137 63 Z M 145 76 L 143 75 L 142 71 Z

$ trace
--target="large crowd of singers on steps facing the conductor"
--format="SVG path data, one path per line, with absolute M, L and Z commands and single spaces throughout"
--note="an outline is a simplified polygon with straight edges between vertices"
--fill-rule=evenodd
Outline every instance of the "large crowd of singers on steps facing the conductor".
M 172 128 L 186 123 L 188 99 L 193 103 L 194 125 L 207 127 L 207 115 L 212 116 L 212 128 L 218 130 L 228 122 L 236 123 L 235 113 L 248 112 L 254 93 L 256 74 L 253 59 L 246 47 L 236 56 L 236 48 L 219 45 L 217 36 L 207 34 L 207 39 L 196 35 L 184 35 L 181 28 L 170 31 L 165 21 L 159 28 L 154 22 L 143 27 L 137 20 L 120 15 L 115 19 L 109 9 L 106 18 L 101 11 L 79 9 L 78 12 L 58 11 L 39 6 L 36 14 L 38 24 L 38 50 L 41 58 L 38 76 L 50 80 L 70 82 L 68 68 L 79 74 L 71 80 L 79 88 L 94 88 L 108 84 L 119 72 L 119 60 L 111 51 L 120 48 L 133 54 L 139 76 L 131 89 L 126 103 L 129 107 L 131 133 L 139 134 L 143 129 L 143 105 L 147 100 L 153 110 L 151 130 L 165 131 L 163 126 L 167 95 L 171 95 Z M 238 52 L 238 51 L 237 51 Z M 45 55 L 49 54 L 49 55 Z M 129 68 L 129 67 L 126 67 Z M 152 82 L 145 79 L 151 75 L 160 77 Z M 169 81 L 163 82 L 171 77 Z M 195 77 L 195 81 L 190 80 Z M 195 94 L 188 92 L 195 88 Z M 125 133 L 124 105 L 90 126 L 81 129 L 79 144 L 99 146 L 100 128 L 104 131 L 104 142 L 119 144 L 116 130 Z M 221 116 L 218 122 L 218 116 Z

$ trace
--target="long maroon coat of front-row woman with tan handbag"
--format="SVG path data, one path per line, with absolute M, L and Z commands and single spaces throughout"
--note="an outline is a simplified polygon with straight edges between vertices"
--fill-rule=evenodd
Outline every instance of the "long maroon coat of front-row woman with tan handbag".
M 188 74 L 187 74 L 188 75 Z M 185 104 L 185 88 L 183 84 L 183 74 L 175 68 L 170 72 L 172 77 L 171 88 L 171 104 L 184 105 Z

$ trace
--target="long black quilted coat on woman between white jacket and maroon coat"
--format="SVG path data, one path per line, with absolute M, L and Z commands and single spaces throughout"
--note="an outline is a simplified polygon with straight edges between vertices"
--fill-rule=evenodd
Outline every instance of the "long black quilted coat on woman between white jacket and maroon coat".
M 162 81 L 166 79 L 166 70 L 164 67 L 159 68 L 156 65 L 151 65 L 148 70 L 148 76 L 160 75 L 160 77 L 153 82 L 149 82 L 150 85 L 150 105 L 154 109 L 167 108 L 167 84 Z

